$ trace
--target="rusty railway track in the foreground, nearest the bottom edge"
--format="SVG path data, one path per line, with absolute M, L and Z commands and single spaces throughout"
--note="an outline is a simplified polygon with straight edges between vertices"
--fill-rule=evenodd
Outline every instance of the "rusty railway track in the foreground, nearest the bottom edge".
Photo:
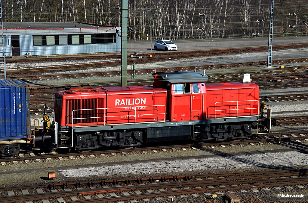
M 233 191 L 257 192 L 287 189 L 305 190 L 308 183 L 307 169 L 247 171 L 177 175 L 163 177 L 141 177 L 109 179 L 87 182 L 59 182 L 41 185 L 2 187 L 1 202 L 47 200 L 48 202 L 116 202 L 145 199 L 169 201 L 191 194 L 212 196 Z M 231 192 L 227 192 L 231 191 Z M 15 194 L 16 193 L 16 194 Z

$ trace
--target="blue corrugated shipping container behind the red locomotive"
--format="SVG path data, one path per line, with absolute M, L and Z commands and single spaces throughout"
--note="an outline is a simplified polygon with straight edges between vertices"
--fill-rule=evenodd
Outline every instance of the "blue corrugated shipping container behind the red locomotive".
M 0 140 L 30 135 L 29 86 L 21 80 L 0 80 Z

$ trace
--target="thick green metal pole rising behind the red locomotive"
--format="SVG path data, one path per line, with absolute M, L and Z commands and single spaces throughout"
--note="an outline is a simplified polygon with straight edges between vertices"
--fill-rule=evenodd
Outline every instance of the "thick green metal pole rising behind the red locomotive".
M 121 27 L 121 86 L 127 86 L 127 16 L 128 0 L 122 0 L 122 27 Z

